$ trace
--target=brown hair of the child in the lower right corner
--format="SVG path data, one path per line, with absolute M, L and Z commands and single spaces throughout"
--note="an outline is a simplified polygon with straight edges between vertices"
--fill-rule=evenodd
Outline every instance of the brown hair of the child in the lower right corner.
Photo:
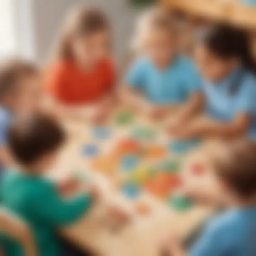
M 233 140 L 217 150 L 212 160 L 219 178 L 241 198 L 256 193 L 256 143 L 247 139 Z

